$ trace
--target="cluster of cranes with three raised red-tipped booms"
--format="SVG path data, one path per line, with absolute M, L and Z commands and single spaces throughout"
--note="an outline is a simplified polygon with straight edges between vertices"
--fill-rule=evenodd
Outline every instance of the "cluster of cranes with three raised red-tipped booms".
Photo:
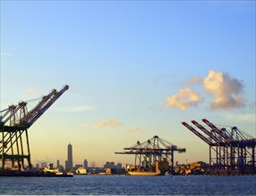
M 209 175 L 256 174 L 256 139 L 237 127 L 216 127 L 208 119 L 207 127 L 192 120 L 194 127 L 182 122 L 193 134 L 209 145 Z

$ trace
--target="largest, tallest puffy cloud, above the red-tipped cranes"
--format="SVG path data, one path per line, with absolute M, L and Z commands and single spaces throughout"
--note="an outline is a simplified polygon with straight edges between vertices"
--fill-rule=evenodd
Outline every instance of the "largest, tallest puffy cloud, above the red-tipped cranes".
M 214 100 L 210 108 L 229 110 L 243 106 L 243 81 L 231 78 L 227 73 L 209 70 L 203 79 L 204 91 L 213 94 Z

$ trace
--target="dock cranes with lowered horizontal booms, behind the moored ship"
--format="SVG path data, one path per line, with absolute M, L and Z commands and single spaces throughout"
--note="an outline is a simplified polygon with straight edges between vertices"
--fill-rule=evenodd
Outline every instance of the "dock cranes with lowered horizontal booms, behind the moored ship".
M 123 152 L 115 154 L 133 154 L 135 155 L 135 164 L 132 167 L 134 171 L 152 171 L 158 166 L 161 173 L 171 172 L 174 174 L 174 152 L 185 152 L 184 148 L 166 142 L 164 139 L 155 135 L 148 141 L 140 143 L 139 141 L 129 148 L 124 148 Z

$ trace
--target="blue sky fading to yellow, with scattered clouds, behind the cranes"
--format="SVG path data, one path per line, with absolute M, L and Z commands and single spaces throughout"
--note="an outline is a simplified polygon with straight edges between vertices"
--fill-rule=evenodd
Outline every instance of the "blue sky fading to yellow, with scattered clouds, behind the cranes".
M 0 68 L 0 110 L 70 86 L 29 129 L 32 163 L 68 143 L 73 164 L 133 163 L 115 151 L 154 135 L 209 162 L 181 124 L 201 118 L 256 136 L 255 1 L 1 0 Z

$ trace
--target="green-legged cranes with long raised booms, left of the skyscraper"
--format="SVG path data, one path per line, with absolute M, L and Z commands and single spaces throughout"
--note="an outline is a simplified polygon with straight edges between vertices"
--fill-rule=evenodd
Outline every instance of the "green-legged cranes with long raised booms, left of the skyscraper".
M 30 111 L 27 102 L 0 111 L 0 170 L 31 167 L 28 129 L 68 88 L 66 85 L 59 92 L 52 90 Z

